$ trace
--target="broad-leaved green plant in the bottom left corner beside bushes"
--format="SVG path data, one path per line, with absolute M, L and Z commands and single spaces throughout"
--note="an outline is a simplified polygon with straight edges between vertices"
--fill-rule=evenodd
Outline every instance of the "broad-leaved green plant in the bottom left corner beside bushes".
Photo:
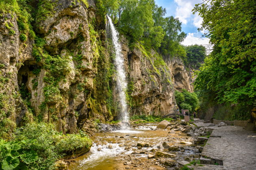
M 37 161 L 38 156 L 34 150 L 22 147 L 23 142 L 0 139 L 0 166 L 3 170 L 28 169 L 29 164 Z

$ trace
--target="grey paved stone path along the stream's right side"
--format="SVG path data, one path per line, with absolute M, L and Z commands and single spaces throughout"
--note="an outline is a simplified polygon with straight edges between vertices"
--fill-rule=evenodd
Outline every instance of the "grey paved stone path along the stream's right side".
M 198 125 L 203 122 L 195 123 Z M 240 126 L 213 127 L 202 156 L 223 161 L 223 166 L 195 166 L 195 170 L 256 170 L 256 133 Z

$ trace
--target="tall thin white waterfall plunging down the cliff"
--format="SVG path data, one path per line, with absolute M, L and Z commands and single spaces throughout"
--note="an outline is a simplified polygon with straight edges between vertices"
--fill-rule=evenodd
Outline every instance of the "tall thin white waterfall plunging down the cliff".
M 114 65 L 116 68 L 116 81 L 117 81 L 117 92 L 119 97 L 119 105 L 120 105 L 120 117 L 121 117 L 121 129 L 126 130 L 129 128 L 129 114 L 127 110 L 127 102 L 126 102 L 126 89 L 127 89 L 127 82 L 126 82 L 126 74 L 124 69 L 124 57 L 121 53 L 121 44 L 119 42 L 119 34 L 115 29 L 115 26 L 112 22 L 111 17 L 108 17 L 108 22 L 106 26 L 106 32 L 108 35 L 111 35 L 111 39 L 113 41 L 113 47 L 115 51 L 115 59 Z

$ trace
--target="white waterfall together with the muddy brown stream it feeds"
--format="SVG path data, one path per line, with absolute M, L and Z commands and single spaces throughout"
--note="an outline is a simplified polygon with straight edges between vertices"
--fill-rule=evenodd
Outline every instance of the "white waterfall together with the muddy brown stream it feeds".
M 115 52 L 115 67 L 116 67 L 116 81 L 117 91 L 120 105 L 120 118 L 121 130 L 95 133 L 91 139 L 93 145 L 89 153 L 73 159 L 70 161 L 68 170 L 123 170 L 134 169 L 139 167 L 144 169 L 153 168 L 155 170 L 164 170 L 163 166 L 152 163 L 152 159 L 149 160 L 147 155 L 152 153 L 152 149 L 157 149 L 163 141 L 167 141 L 169 144 L 178 144 L 182 147 L 189 147 L 192 143 L 192 139 L 186 137 L 186 134 L 175 132 L 168 133 L 166 130 L 156 129 L 157 124 L 147 125 L 129 125 L 129 114 L 127 110 L 126 102 L 126 73 L 124 69 L 124 57 L 121 53 L 121 44 L 118 39 L 118 32 L 115 29 L 112 20 L 108 17 L 106 26 L 108 36 L 111 36 L 113 41 L 113 49 Z M 186 140 L 186 145 L 180 144 L 180 140 Z M 150 147 L 139 149 L 137 147 L 138 142 L 147 142 Z M 138 151 L 139 150 L 139 151 Z M 137 151 L 138 153 L 134 153 Z M 167 152 L 168 149 L 160 149 L 160 151 Z M 193 155 L 192 150 L 184 152 L 176 152 L 178 157 L 184 159 L 184 156 Z M 124 165 L 124 161 L 132 161 L 133 167 L 127 167 Z

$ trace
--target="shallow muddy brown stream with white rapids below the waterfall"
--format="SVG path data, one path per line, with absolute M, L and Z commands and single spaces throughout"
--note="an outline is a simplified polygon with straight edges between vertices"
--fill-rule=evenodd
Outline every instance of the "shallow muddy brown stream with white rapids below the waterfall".
M 190 161 L 198 157 L 197 149 L 193 145 L 193 138 L 176 131 L 156 129 L 157 124 L 147 124 L 130 130 L 96 133 L 92 138 L 93 146 L 89 153 L 70 161 L 69 170 L 125 170 L 125 169 L 152 169 L 165 170 L 168 167 L 159 163 L 159 160 L 148 159 L 148 154 L 155 151 L 176 154 L 174 160 Z M 181 141 L 186 144 L 180 144 Z M 150 147 L 138 148 L 137 143 L 148 143 Z M 170 152 L 158 146 L 167 142 L 170 146 L 183 147 L 181 151 Z M 128 162 L 128 165 L 124 165 Z M 132 164 L 130 164 L 132 162 Z

